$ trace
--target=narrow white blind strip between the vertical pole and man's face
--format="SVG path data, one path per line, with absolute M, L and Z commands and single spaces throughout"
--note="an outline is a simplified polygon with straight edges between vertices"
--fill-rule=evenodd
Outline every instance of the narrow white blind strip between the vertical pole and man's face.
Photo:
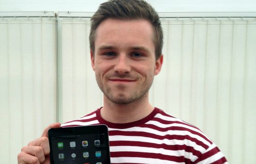
M 65 122 L 100 107 L 102 93 L 91 69 L 90 18 L 60 18 L 59 27 L 62 29 L 59 120 Z

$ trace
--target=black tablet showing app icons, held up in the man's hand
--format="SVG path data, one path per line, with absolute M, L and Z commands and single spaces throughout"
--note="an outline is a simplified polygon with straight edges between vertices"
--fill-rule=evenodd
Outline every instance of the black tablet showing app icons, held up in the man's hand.
M 106 125 L 50 129 L 51 164 L 110 164 Z

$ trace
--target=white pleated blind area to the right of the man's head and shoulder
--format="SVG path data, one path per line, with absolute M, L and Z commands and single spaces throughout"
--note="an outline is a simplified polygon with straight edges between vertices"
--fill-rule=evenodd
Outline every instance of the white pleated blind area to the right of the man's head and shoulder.
M 256 19 L 162 22 L 165 63 L 151 100 L 200 127 L 231 164 L 251 164 L 256 160 Z

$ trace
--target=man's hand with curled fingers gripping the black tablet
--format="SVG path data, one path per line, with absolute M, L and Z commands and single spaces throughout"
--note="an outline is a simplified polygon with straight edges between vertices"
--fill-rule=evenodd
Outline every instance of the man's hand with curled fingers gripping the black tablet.
M 23 147 L 18 154 L 18 164 L 50 164 L 48 130 L 59 127 L 60 123 L 50 124 L 44 129 L 40 138 L 31 141 L 27 147 Z

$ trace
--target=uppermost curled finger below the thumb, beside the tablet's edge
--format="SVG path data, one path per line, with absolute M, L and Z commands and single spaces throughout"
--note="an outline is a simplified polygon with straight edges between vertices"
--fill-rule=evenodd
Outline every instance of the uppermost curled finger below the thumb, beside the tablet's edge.
M 47 137 L 37 138 L 36 140 L 31 141 L 28 144 L 28 147 L 33 147 L 33 146 L 41 147 L 43 150 L 44 156 L 50 153 L 49 139 Z

